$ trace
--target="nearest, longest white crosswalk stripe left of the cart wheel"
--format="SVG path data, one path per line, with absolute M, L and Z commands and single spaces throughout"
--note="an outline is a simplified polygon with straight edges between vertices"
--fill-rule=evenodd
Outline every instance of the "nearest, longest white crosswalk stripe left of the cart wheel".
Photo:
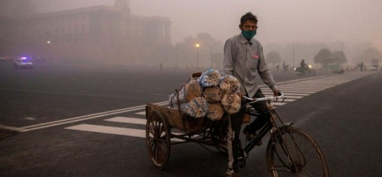
M 79 124 L 71 127 L 66 127 L 65 129 L 69 130 L 80 130 L 88 132 L 97 132 L 97 133 L 107 133 L 114 135 L 124 135 L 124 136 L 133 136 L 138 138 L 146 138 L 146 130 L 133 129 L 133 128 L 121 128 L 121 127 L 110 127 L 102 125 L 91 125 L 91 124 Z M 172 138 L 171 141 L 184 141 L 177 138 Z

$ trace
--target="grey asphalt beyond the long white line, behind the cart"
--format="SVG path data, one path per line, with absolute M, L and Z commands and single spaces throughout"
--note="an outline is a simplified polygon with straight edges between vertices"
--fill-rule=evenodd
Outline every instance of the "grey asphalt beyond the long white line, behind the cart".
M 0 62 L 0 109 L 5 110 L 0 125 L 24 127 L 161 102 L 196 71 L 50 64 L 15 70 L 11 63 Z M 300 78 L 307 77 L 275 73 L 278 82 Z

